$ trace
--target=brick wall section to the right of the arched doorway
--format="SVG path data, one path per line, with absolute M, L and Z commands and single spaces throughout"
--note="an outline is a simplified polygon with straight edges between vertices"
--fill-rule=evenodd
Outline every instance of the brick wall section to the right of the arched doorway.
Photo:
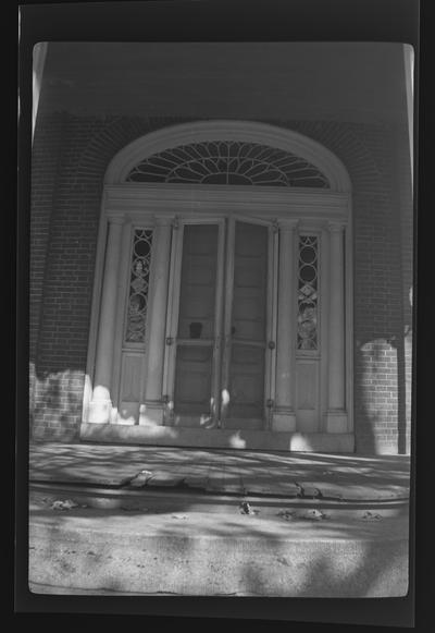
M 355 428 L 360 453 L 409 451 L 412 204 L 406 131 L 303 123 L 348 169 L 353 208 Z

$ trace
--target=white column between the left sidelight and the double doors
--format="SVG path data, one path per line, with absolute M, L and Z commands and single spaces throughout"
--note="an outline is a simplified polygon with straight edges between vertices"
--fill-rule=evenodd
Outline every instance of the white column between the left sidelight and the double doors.
M 167 284 L 171 258 L 171 221 L 158 220 L 152 238 L 152 279 L 147 349 L 147 378 L 145 403 L 140 407 L 139 424 L 163 423 L 163 364 L 166 327 Z

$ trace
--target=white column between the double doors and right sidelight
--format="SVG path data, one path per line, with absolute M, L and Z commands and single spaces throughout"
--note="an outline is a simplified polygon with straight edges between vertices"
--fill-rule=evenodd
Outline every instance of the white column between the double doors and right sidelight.
M 295 229 L 297 220 L 279 221 L 278 311 L 275 406 L 272 430 L 296 429 L 295 415 Z

